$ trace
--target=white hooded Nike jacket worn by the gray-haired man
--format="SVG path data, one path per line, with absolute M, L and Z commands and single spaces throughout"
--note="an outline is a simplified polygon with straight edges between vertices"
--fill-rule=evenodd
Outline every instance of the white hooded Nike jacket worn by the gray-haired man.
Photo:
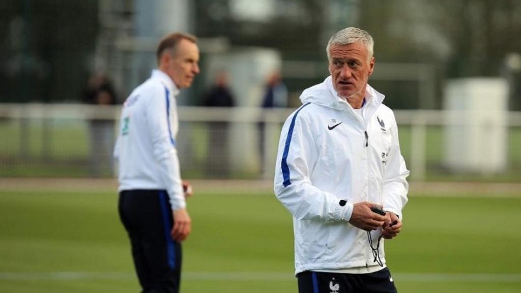
M 402 218 L 409 172 L 383 98 L 368 85 L 362 119 L 328 77 L 302 93 L 304 105 L 286 120 L 275 194 L 293 215 L 295 274 L 377 264 L 366 231 L 348 223 L 354 203 L 382 204 Z M 371 233 L 375 248 L 380 233 Z M 385 263 L 383 239 L 379 250 Z

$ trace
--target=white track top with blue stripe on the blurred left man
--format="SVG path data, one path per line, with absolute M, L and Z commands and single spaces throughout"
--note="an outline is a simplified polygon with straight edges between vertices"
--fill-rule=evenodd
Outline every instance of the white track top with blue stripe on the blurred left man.
M 176 150 L 178 93 L 168 75 L 153 70 L 123 104 L 114 148 L 119 191 L 164 189 L 172 210 L 186 206 Z

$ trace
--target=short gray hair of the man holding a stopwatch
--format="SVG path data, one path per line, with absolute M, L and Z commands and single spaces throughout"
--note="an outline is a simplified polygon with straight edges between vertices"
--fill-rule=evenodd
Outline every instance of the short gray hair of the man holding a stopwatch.
M 329 39 L 326 47 L 327 59 L 329 62 L 331 62 L 331 53 L 329 52 L 329 49 L 332 45 L 345 46 L 353 43 L 362 44 L 367 48 L 367 61 L 369 62 L 371 57 L 373 57 L 373 47 L 375 46 L 375 41 L 368 32 L 354 27 L 339 30 L 331 36 L 331 39 Z

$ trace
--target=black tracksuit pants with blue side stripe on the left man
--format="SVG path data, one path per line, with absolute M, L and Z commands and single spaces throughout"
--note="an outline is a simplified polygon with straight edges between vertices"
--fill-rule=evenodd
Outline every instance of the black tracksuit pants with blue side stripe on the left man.
M 123 190 L 118 207 L 143 292 L 179 292 L 181 244 L 170 236 L 173 219 L 168 193 Z

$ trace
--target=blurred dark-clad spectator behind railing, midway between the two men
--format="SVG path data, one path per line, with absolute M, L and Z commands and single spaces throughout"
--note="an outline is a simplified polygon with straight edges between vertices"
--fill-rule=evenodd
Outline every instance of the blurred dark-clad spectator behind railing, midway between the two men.
M 218 72 L 215 84 L 205 93 L 203 106 L 206 107 L 233 107 L 234 99 L 228 86 L 228 74 Z M 207 160 L 207 171 L 210 176 L 226 177 L 230 173 L 228 132 L 229 123 L 224 121 L 212 122 L 208 127 L 210 150 Z

